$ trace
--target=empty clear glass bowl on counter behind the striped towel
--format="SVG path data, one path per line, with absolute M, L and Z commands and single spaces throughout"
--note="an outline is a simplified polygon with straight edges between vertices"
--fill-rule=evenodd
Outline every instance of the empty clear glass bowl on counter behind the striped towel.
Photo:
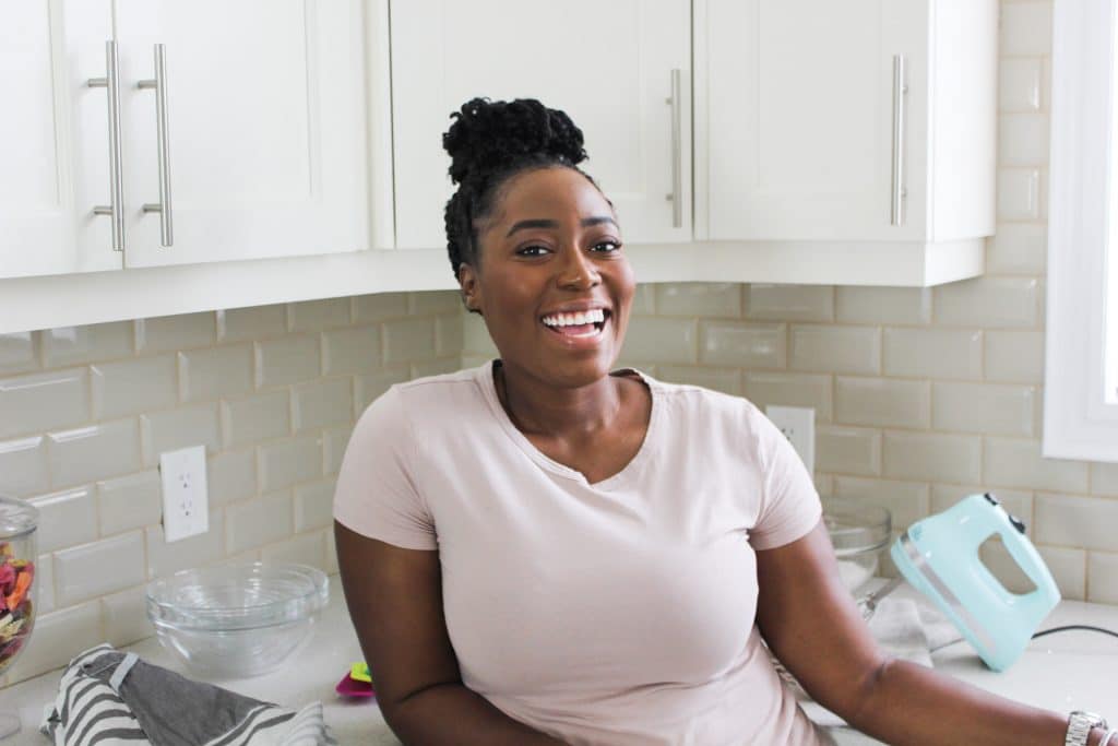
M 192 671 L 246 678 L 275 670 L 310 639 L 329 584 L 306 565 L 240 563 L 152 580 L 146 596 L 160 643 Z

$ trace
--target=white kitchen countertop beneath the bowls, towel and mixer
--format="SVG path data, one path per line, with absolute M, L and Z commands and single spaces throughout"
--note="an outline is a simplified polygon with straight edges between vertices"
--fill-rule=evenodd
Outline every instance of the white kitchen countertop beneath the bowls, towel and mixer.
M 344 700 L 334 692 L 334 686 L 349 671 L 350 663 L 362 657 L 338 576 L 330 580 L 330 606 L 321 616 L 310 643 L 281 670 L 252 679 L 212 682 L 286 707 L 322 700 L 326 721 L 343 746 L 398 746 L 399 742 L 371 700 Z M 918 597 L 907 586 L 896 594 Z M 1118 631 L 1118 607 L 1063 602 L 1041 629 L 1064 624 L 1090 624 Z M 154 638 L 125 650 L 151 663 L 191 676 Z M 1048 635 L 1034 640 L 1021 660 L 1003 673 L 986 669 L 966 643 L 947 646 L 936 652 L 932 660 L 936 669 L 944 673 L 1012 699 L 1060 712 L 1088 709 L 1118 720 L 1118 640 L 1114 638 L 1092 632 Z M 53 671 L 0 690 L 0 709 L 18 709 L 23 719 L 23 730 L 0 742 L 3 746 L 48 743 L 37 728 L 44 706 L 55 697 L 59 676 L 59 671 Z M 878 743 L 845 728 L 834 730 L 834 735 L 843 746 Z

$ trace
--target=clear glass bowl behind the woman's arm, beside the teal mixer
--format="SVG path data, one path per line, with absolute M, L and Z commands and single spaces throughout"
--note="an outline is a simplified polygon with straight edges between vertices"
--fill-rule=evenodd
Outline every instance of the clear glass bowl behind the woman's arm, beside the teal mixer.
M 839 574 L 856 594 L 878 572 L 881 550 L 892 538 L 892 516 L 881 506 L 855 498 L 823 501 L 823 522 L 839 559 Z

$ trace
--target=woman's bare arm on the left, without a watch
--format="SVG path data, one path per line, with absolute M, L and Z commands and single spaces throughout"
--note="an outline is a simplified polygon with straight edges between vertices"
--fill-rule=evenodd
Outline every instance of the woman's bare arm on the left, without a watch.
M 462 683 L 443 617 L 438 553 L 401 549 L 334 522 L 350 617 L 377 701 L 405 744 L 561 746 Z

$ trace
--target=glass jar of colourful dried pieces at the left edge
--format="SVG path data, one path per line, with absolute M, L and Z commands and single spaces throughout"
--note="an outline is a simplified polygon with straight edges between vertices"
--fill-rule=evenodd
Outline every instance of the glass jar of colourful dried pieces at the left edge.
M 0 676 L 27 646 L 35 627 L 35 530 L 39 511 L 0 495 Z M 0 709 L 0 738 L 19 733 L 19 716 Z

